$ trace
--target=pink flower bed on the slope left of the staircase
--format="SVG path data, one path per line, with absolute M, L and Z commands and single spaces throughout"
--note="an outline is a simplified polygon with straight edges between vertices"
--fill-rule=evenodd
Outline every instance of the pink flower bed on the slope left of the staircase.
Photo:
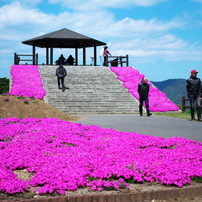
M 9 94 L 43 99 L 46 92 L 38 68 L 35 65 L 13 65 L 12 88 Z

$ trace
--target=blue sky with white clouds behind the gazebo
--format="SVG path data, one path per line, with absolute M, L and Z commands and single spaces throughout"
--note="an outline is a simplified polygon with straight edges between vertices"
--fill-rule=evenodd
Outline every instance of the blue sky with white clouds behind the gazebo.
M 129 55 L 150 81 L 187 79 L 193 69 L 202 78 L 202 0 L 0 0 L 0 78 L 10 77 L 14 53 L 32 54 L 22 41 L 63 28 L 107 43 L 114 56 Z M 46 50 L 36 53 L 45 63 Z M 53 60 L 60 54 L 74 50 L 54 49 Z M 88 48 L 87 64 L 92 56 Z

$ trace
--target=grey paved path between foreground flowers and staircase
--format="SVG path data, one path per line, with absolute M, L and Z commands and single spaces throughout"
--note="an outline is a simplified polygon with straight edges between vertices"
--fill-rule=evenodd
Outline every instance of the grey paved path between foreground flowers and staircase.
M 187 119 L 152 115 L 77 115 L 85 125 L 97 125 L 102 128 L 113 128 L 117 131 L 136 132 L 164 138 L 176 136 L 202 142 L 202 122 Z

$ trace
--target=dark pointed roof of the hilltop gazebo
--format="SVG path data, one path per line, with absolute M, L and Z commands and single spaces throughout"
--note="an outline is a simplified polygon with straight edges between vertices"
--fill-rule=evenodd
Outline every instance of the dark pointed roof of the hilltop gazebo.
M 83 48 L 84 43 L 85 47 L 106 45 L 106 43 L 102 41 L 98 41 L 66 28 L 23 41 L 22 43 L 41 48 L 51 46 L 53 48 Z

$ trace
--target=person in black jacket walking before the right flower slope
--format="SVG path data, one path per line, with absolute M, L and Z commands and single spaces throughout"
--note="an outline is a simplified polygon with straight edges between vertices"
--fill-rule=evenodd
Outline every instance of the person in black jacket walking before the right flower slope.
M 140 106 L 139 106 L 139 112 L 140 116 L 142 116 L 142 106 L 143 106 L 143 101 L 145 102 L 146 105 L 146 110 L 147 110 L 147 116 L 151 116 L 152 114 L 149 111 L 149 84 L 147 83 L 147 79 L 144 77 L 142 78 L 141 83 L 138 85 L 138 93 L 140 96 Z

